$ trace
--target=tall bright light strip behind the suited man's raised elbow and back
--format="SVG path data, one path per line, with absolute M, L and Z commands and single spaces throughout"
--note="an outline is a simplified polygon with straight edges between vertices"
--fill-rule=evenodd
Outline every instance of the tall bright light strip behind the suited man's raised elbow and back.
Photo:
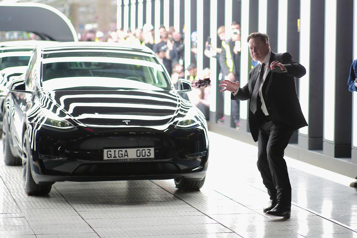
M 281 0 L 280 0 L 281 1 Z M 279 3 L 280 3 L 279 1 Z M 311 0 L 300 2 L 300 63 L 305 66 L 306 74 L 299 83 L 299 100 L 305 119 L 309 119 L 309 81 L 310 81 L 310 7 Z M 279 38 L 280 39 L 280 38 Z M 286 52 L 286 51 L 279 51 Z M 308 127 L 299 129 L 302 134 L 308 134 Z

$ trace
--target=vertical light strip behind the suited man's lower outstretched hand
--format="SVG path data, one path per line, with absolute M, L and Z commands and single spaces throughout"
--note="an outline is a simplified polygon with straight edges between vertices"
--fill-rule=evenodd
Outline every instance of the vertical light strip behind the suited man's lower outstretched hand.
M 226 40 L 230 39 L 233 32 L 231 29 L 232 24 L 232 0 L 225 1 L 225 37 Z M 224 77 L 224 76 L 223 76 Z M 225 77 L 226 80 L 229 80 L 228 77 Z M 223 112 L 225 115 L 231 115 L 231 92 L 225 91 L 224 100 L 223 100 Z

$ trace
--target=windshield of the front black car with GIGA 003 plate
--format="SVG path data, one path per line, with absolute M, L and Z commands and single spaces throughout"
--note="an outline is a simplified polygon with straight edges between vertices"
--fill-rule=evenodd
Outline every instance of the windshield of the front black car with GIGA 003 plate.
M 53 50 L 42 60 L 42 87 L 57 90 L 172 90 L 156 57 L 130 50 Z

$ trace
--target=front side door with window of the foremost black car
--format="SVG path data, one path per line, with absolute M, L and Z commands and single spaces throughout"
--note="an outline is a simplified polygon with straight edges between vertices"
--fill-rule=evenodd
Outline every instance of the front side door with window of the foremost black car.
M 22 129 L 25 120 L 25 113 L 31 107 L 33 86 L 36 78 L 40 75 L 40 67 L 37 60 L 38 54 L 34 50 L 29 66 L 25 74 L 25 91 L 26 92 L 12 92 L 11 93 L 11 122 L 10 131 L 12 136 L 12 146 L 16 147 L 18 151 L 22 150 Z

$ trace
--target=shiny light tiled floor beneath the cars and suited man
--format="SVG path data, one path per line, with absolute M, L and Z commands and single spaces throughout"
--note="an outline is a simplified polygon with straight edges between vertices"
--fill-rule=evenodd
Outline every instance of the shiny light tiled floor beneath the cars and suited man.
M 291 218 L 266 217 L 256 154 L 255 146 L 210 133 L 201 191 L 180 192 L 172 180 L 58 182 L 46 197 L 26 196 L 21 167 L 0 159 L 0 237 L 357 238 L 357 192 L 303 172 L 308 167 L 288 168 Z

